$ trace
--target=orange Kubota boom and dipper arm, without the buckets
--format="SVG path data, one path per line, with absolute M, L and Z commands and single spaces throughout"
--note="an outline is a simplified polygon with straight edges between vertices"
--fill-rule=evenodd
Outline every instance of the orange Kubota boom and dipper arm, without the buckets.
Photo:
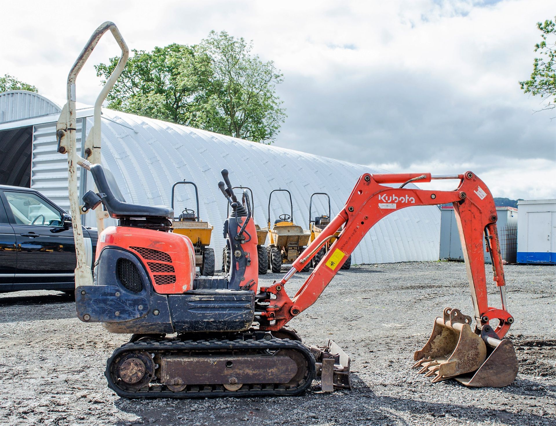
M 428 191 L 404 187 L 410 181 L 430 182 L 432 179 L 459 179 L 453 191 Z M 384 184 L 403 184 L 397 187 Z M 263 330 L 278 330 L 294 316 L 309 308 L 340 270 L 347 256 L 353 252 L 365 234 L 383 217 L 411 206 L 428 206 L 453 203 L 458 224 L 465 266 L 475 310 L 477 329 L 491 320 L 498 320 L 494 330 L 502 338 L 513 323 L 506 310 L 505 281 L 502 256 L 497 232 L 497 213 L 494 199 L 483 181 L 473 172 L 455 176 L 431 176 L 430 174 L 365 174 L 361 176 L 347 199 L 344 209 L 332 219 L 304 252 L 293 262 L 291 270 L 274 285 L 261 288 L 259 302 L 264 309 L 260 314 Z M 301 271 L 320 247 L 341 227 L 340 236 L 331 245 L 324 258 L 293 298 L 284 286 L 297 272 Z M 502 309 L 488 305 L 484 268 L 483 236 L 492 256 L 494 282 L 500 289 Z M 265 296 L 266 294 L 266 296 Z M 271 296 L 274 294 L 275 296 Z

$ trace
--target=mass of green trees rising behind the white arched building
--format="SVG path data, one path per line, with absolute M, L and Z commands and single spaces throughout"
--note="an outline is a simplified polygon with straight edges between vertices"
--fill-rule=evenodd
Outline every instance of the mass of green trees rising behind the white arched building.
M 286 117 L 272 61 L 251 55 L 251 43 L 212 31 L 200 44 L 133 51 L 108 94 L 108 107 L 270 143 Z M 105 83 L 118 58 L 97 65 Z

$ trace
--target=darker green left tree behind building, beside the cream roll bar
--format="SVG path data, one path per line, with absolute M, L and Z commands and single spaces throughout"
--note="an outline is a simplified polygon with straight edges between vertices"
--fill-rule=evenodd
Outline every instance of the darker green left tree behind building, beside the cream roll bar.
M 116 67 L 118 57 L 95 66 L 102 84 Z M 186 126 L 199 126 L 206 104 L 209 58 L 181 44 L 155 47 L 152 52 L 133 50 L 133 56 L 108 93 L 108 108 L 158 118 Z

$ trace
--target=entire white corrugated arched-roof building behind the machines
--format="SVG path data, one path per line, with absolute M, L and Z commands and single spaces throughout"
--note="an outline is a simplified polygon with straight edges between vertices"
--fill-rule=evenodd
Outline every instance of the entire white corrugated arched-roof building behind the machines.
M 56 121 L 61 107 L 26 91 L 0 93 L 0 150 L 14 132 L 31 135 L 31 187 L 67 208 L 66 156 L 56 152 Z M 255 222 L 266 226 L 269 193 L 288 189 L 294 204 L 294 221 L 308 227 L 309 198 L 327 192 L 332 215 L 344 206 L 358 177 L 364 172 L 384 170 L 338 161 L 332 158 L 262 145 L 191 127 L 139 117 L 119 111 L 102 111 L 102 163 L 112 171 L 128 202 L 170 205 L 172 184 L 196 182 L 200 216 L 214 226 L 211 246 L 219 253 L 225 241 L 221 227 L 226 218 L 226 200 L 217 182 L 221 169 L 230 171 L 234 185 L 254 192 Z M 92 108 L 78 110 L 78 137 L 92 126 Z M 23 137 L 23 136 L 21 136 Z M 80 142 L 81 138 L 78 139 Z M 4 141 L 4 142 L 2 142 Z M 0 169 L 9 165 L 0 163 Z M 0 170 L 0 178 L 2 170 Z M 87 172 L 88 174 L 88 172 Z M 6 180 L 6 178 L 4 178 Z M 81 192 L 91 189 L 92 177 L 81 175 Z M 3 182 L 0 182 L 3 183 Z M 285 193 L 272 195 L 271 219 L 289 213 Z M 195 208 L 191 191 L 176 191 L 175 210 Z M 326 199 L 315 196 L 312 215 L 327 214 Z M 94 226 L 93 215 L 85 223 Z M 438 260 L 440 211 L 436 206 L 408 207 L 380 221 L 353 253 L 353 263 Z M 220 265 L 217 265 L 220 266 Z

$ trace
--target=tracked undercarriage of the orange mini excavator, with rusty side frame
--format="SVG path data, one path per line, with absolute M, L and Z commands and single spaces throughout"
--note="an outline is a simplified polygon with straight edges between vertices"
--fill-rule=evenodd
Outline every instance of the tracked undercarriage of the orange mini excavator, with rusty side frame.
M 285 396 L 311 385 L 315 360 L 300 341 L 257 331 L 229 339 L 146 336 L 118 348 L 105 375 L 128 398 Z

